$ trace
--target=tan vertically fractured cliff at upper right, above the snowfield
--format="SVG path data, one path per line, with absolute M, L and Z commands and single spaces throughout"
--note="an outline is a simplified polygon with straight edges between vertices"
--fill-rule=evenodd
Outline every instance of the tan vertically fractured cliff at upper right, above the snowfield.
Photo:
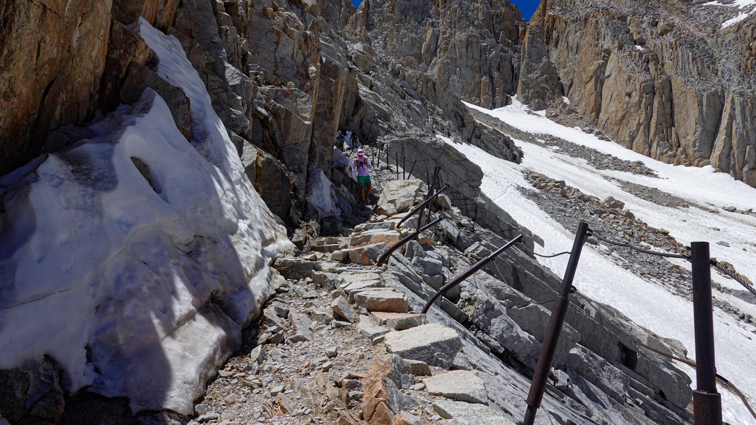
M 568 108 L 612 140 L 756 186 L 754 20 L 701 2 L 550 0 L 522 48 L 519 98 Z

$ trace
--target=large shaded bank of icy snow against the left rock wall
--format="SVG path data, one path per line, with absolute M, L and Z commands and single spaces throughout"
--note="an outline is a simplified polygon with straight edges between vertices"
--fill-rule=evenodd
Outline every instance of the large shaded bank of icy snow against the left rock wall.
M 188 414 L 293 245 L 178 40 L 133 29 L 190 98 L 193 141 L 147 89 L 99 137 L 2 177 L 0 369 L 51 356 L 64 390 Z

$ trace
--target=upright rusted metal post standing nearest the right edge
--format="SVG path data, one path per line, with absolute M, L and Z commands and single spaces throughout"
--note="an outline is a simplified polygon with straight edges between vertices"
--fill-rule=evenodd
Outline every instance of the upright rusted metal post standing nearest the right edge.
M 696 390 L 693 423 L 721 425 L 722 399 L 717 393 L 714 362 L 714 317 L 711 307 L 711 269 L 708 242 L 691 242 L 693 274 L 693 326 L 696 333 Z

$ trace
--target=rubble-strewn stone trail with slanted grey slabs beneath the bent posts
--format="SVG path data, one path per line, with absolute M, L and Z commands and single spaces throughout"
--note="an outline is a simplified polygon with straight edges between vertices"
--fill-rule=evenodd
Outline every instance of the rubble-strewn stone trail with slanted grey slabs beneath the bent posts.
M 421 180 L 387 181 L 367 223 L 346 236 L 308 236 L 277 259 L 275 293 L 188 423 L 521 421 L 561 279 L 513 248 L 419 314 L 445 282 L 506 243 L 440 196 L 431 220 L 442 222 L 375 266 L 417 229 L 417 216 L 397 224 L 426 191 Z M 685 356 L 682 344 L 596 305 L 643 343 Z M 689 383 L 571 298 L 536 423 L 691 423 Z

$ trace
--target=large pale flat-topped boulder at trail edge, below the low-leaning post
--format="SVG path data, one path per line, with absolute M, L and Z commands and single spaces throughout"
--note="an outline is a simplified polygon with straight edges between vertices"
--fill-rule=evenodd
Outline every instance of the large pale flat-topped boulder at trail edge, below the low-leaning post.
M 386 334 L 386 350 L 403 359 L 421 360 L 428 365 L 448 369 L 462 349 L 457 331 L 440 323 Z

